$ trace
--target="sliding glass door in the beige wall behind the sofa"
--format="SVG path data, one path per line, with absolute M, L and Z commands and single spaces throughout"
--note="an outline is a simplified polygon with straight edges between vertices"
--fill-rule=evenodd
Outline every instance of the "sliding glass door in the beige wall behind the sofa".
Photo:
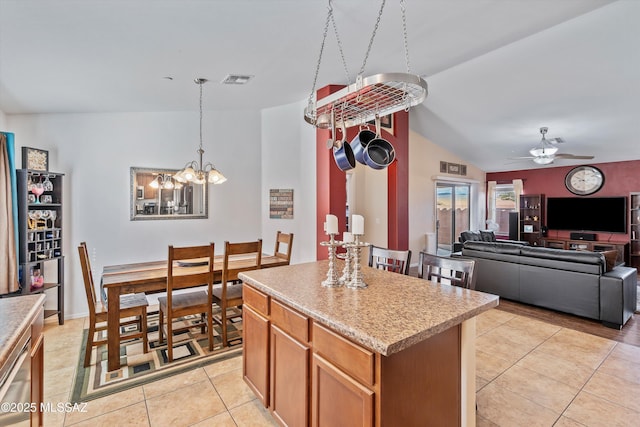
M 469 229 L 469 184 L 436 184 L 436 239 L 438 254 L 451 253 L 453 242 Z

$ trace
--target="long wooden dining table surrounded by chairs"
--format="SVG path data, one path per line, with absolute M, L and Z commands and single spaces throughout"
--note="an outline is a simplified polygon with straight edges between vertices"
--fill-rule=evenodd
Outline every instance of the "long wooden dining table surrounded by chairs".
M 223 255 L 216 255 L 213 262 L 214 283 L 222 280 Z M 228 279 L 237 280 L 238 274 L 255 269 L 255 257 L 247 255 L 229 257 Z M 279 267 L 289 262 L 277 255 L 263 254 L 260 268 Z M 167 261 L 149 261 L 104 266 L 101 286 L 107 302 L 107 369 L 120 369 L 120 295 L 131 293 L 155 293 L 166 291 Z M 179 262 L 174 274 L 193 274 L 206 271 L 207 262 L 194 259 Z

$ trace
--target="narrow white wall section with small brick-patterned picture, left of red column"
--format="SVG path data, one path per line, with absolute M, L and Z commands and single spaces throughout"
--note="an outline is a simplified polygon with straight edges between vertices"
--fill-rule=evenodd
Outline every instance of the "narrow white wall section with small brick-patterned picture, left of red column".
M 291 263 L 316 259 L 316 131 L 304 121 L 306 102 L 262 111 L 262 235 L 266 251 L 278 230 L 294 233 Z M 293 189 L 293 219 L 269 218 L 269 190 Z

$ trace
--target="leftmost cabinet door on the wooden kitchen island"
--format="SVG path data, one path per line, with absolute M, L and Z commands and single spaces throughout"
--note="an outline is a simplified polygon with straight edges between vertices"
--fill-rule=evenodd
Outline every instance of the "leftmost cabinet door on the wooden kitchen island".
M 269 320 L 242 308 L 244 380 L 266 408 L 269 404 Z

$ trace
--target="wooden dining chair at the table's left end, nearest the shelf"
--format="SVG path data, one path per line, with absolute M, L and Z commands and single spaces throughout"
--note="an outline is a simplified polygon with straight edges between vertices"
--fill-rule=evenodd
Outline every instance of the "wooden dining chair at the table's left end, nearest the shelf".
M 84 354 L 84 366 L 89 366 L 91 362 L 91 350 L 94 346 L 107 343 L 107 339 L 96 340 L 96 332 L 107 330 L 107 302 L 101 298 L 99 303 L 96 299 L 96 289 L 91 272 L 91 262 L 89 261 L 89 251 L 86 242 L 81 242 L 78 246 L 80 256 L 80 266 L 82 267 L 82 278 L 84 279 L 84 290 L 87 295 L 89 305 L 89 335 L 87 337 L 87 347 Z M 101 293 L 102 295 L 102 293 Z M 142 338 L 143 351 L 148 352 L 149 341 L 147 337 L 147 307 L 149 302 L 144 293 L 128 294 L 120 296 L 120 326 L 136 324 L 137 332 L 127 333 L 122 336 L 124 339 Z M 122 321 L 126 318 L 133 320 Z

